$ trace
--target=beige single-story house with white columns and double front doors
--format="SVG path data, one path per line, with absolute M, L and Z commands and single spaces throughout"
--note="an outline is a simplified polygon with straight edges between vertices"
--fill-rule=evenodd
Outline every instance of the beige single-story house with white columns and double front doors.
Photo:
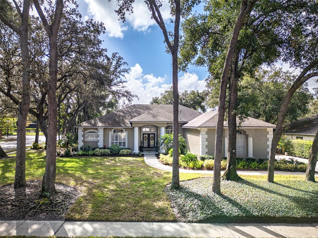
M 172 105 L 134 104 L 82 122 L 76 125 L 79 146 L 110 147 L 118 144 L 137 153 L 142 145 L 144 150 L 154 150 L 160 136 L 172 133 L 172 109 Z M 214 155 L 217 115 L 217 111 L 200 114 L 179 105 L 179 133 L 186 139 L 192 153 Z M 237 156 L 268 157 L 273 128 L 273 124 L 248 117 L 237 130 Z M 227 122 L 224 124 L 222 156 L 226 156 L 226 151 Z

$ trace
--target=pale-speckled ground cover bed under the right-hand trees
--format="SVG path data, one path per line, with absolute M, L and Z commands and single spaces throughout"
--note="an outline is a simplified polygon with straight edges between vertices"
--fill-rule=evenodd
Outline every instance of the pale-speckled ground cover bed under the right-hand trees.
M 318 183 L 304 176 L 276 175 L 222 181 L 222 195 L 212 191 L 212 177 L 180 182 L 165 191 L 178 221 L 185 222 L 317 222 Z

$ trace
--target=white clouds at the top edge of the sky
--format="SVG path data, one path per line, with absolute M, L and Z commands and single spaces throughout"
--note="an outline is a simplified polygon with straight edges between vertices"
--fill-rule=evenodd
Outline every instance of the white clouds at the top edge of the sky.
M 118 7 L 116 1 L 107 0 L 85 0 L 88 5 L 87 15 L 96 21 L 103 22 L 110 37 L 124 36 L 124 31 L 128 27 L 121 21 L 117 20 L 117 15 L 114 12 Z M 149 27 L 155 25 L 154 19 L 151 19 L 151 12 L 142 0 L 137 0 L 133 3 L 133 13 L 126 15 L 128 25 L 131 25 L 134 30 L 148 32 Z M 170 16 L 169 1 L 166 0 L 162 3 L 161 7 L 162 18 L 166 21 Z

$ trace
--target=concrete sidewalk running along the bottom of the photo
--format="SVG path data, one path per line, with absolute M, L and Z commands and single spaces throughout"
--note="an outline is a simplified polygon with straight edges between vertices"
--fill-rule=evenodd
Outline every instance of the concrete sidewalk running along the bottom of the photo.
M 0 236 L 318 237 L 317 224 L 0 221 Z

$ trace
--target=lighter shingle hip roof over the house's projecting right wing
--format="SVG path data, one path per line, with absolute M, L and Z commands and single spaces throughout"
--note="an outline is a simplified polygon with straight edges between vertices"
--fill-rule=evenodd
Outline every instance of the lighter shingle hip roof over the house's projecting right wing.
M 210 111 L 201 114 L 200 116 L 194 118 L 187 124 L 183 125 L 183 127 L 216 127 L 217 126 L 217 121 L 218 121 L 218 111 Z M 275 125 L 268 123 L 268 122 L 263 122 L 261 120 L 248 117 L 246 118 L 241 124 L 239 124 L 239 120 L 236 119 L 236 123 L 240 128 L 243 127 L 269 127 L 269 128 L 274 128 L 276 127 Z M 224 122 L 224 127 L 227 127 L 228 124 L 227 122 Z

